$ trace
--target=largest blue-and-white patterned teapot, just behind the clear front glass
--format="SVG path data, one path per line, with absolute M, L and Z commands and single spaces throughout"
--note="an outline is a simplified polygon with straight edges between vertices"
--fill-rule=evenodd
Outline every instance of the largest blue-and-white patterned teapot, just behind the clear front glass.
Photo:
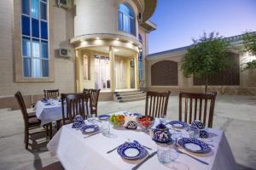
M 172 141 L 172 134 L 163 123 L 160 123 L 153 129 L 153 140 L 160 144 L 167 144 Z

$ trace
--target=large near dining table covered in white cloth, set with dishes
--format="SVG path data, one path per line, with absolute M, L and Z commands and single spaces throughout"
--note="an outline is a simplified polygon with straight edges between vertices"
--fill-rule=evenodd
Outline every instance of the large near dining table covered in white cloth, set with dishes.
M 121 112 L 119 111 L 118 113 Z M 85 123 L 90 122 L 85 120 Z M 95 123 L 101 127 L 102 122 L 96 121 Z M 159 123 L 160 119 L 155 118 L 153 128 Z M 177 133 L 177 130 L 170 128 L 170 132 Z M 178 150 L 185 154 L 177 153 L 177 159 L 167 164 L 160 163 L 156 154 L 137 169 L 235 170 L 236 161 L 224 131 L 209 128 L 208 132 L 211 141 L 207 142 L 207 144 L 212 149 L 209 153 L 195 154 L 183 150 L 180 145 L 172 144 L 170 147 L 177 147 Z M 110 133 L 113 134 L 112 137 L 106 137 L 102 133 L 88 136 L 77 128 L 73 128 L 73 123 L 70 123 L 61 127 L 53 139 L 49 141 L 47 148 L 51 156 L 57 157 L 61 161 L 62 166 L 67 170 L 131 170 L 143 160 L 128 161 L 119 156 L 117 150 L 113 150 L 120 144 L 124 144 L 127 139 L 131 141 L 137 140 L 143 146 L 151 149 L 148 150 L 149 155 L 157 151 L 157 144 L 152 140 L 149 133 L 143 131 L 140 127 L 131 130 L 124 127 L 113 127 L 110 124 Z M 179 133 L 181 135 L 180 138 L 189 138 L 189 133 L 186 130 L 182 129 Z M 109 150 L 113 151 L 108 153 Z M 196 161 L 190 156 L 207 162 L 207 165 Z

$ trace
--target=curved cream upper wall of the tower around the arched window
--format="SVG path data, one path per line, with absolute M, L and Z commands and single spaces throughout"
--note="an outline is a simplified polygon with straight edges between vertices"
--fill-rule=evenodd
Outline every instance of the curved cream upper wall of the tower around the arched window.
M 134 10 L 135 16 L 137 16 L 137 5 L 131 0 L 75 0 L 76 16 L 74 17 L 74 37 L 99 33 L 133 37 L 131 34 L 119 31 L 119 3 L 129 3 Z M 137 20 L 137 17 L 135 18 Z M 137 21 L 136 28 L 138 28 Z

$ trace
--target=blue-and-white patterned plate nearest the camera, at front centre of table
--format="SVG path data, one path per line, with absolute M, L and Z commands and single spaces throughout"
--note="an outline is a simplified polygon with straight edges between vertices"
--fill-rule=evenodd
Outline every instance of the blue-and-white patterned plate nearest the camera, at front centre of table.
M 148 155 L 148 150 L 136 141 L 119 145 L 117 152 L 119 156 L 127 160 L 142 159 Z

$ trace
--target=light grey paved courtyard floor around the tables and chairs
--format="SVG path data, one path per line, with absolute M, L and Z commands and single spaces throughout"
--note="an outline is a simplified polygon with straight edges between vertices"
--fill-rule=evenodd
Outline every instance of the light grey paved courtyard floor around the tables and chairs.
M 144 112 L 145 101 L 99 102 L 98 112 Z M 167 117 L 177 119 L 178 97 L 171 96 Z M 32 138 L 32 149 L 25 150 L 24 125 L 20 111 L 0 110 L 0 169 L 41 169 L 57 161 L 46 149 L 43 134 Z M 256 169 L 256 96 L 218 96 L 213 127 L 225 131 L 239 169 Z M 35 144 L 37 143 L 37 144 Z

